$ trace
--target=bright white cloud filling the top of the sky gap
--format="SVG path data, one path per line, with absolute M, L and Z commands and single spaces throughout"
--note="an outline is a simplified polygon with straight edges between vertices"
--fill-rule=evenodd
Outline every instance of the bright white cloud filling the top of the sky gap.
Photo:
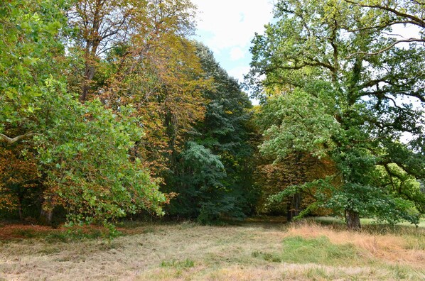
M 198 6 L 198 29 L 212 36 L 205 42 L 215 52 L 235 46 L 247 48 L 254 32 L 262 32 L 271 18 L 270 0 L 193 0 Z

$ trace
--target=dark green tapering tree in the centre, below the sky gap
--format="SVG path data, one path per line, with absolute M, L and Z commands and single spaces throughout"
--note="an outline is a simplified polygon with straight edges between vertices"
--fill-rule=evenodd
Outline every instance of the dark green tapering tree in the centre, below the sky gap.
M 215 61 L 212 52 L 196 43 L 205 80 L 205 118 L 188 135 L 185 148 L 176 157 L 168 175 L 167 190 L 178 193 L 171 200 L 174 216 L 210 222 L 220 216 L 241 217 L 254 209 L 252 182 L 253 148 L 249 144 L 252 107 L 235 79 Z

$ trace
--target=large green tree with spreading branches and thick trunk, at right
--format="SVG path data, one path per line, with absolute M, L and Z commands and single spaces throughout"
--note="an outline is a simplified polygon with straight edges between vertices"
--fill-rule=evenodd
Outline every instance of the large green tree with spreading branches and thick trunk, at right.
M 416 223 L 412 198 L 379 179 L 388 165 L 424 177 L 424 48 L 382 49 L 397 39 L 384 35 L 390 25 L 376 25 L 387 20 L 381 10 L 334 0 L 279 1 L 275 8 L 276 23 L 253 40 L 248 76 L 263 103 L 276 104 L 261 150 L 277 161 L 309 153 L 337 169 L 279 197 L 315 188 L 318 205 L 344 212 L 350 228 L 360 228 L 360 216 Z M 409 144 L 400 141 L 406 132 Z

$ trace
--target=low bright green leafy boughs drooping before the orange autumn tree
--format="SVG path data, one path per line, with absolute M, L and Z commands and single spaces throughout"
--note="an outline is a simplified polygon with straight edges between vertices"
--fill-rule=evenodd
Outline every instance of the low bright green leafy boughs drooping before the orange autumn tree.
M 55 93 L 57 85 L 48 84 Z M 46 198 L 62 204 L 77 224 L 106 223 L 140 209 L 161 214 L 163 194 L 140 160 L 130 160 L 141 135 L 139 121 L 127 117 L 131 109 L 123 108 L 118 118 L 96 100 L 82 105 L 66 92 L 50 99 L 57 118 L 36 140 Z

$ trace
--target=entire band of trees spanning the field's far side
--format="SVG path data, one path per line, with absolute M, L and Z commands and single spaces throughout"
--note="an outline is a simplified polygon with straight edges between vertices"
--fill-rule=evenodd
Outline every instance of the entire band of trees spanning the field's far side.
M 1 214 L 416 223 L 424 13 L 420 1 L 278 1 L 253 40 L 253 108 L 190 39 L 189 0 L 3 1 Z M 418 36 L 387 35 L 401 23 Z

